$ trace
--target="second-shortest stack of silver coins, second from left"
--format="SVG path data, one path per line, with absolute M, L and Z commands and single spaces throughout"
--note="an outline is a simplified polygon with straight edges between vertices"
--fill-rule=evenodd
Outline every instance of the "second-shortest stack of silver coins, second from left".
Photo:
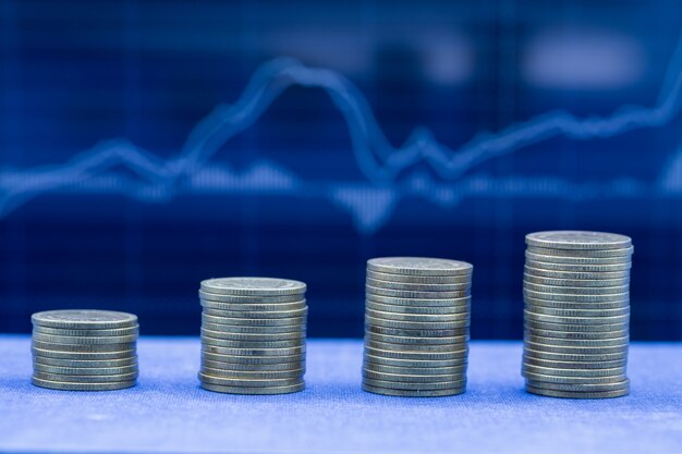
M 287 279 L 203 281 L 202 388 L 231 394 L 302 391 L 305 291 L 303 282 Z

